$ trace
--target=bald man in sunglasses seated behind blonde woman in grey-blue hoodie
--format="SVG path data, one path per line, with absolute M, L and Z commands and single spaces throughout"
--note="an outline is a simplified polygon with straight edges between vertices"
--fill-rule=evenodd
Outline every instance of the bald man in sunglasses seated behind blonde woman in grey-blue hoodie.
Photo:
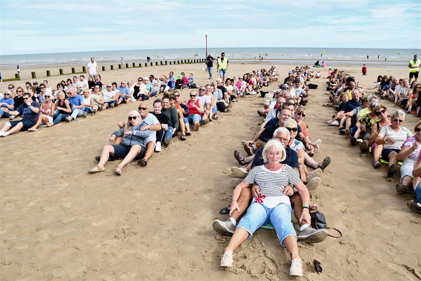
M 140 130 L 152 130 L 151 134 L 147 137 L 147 139 L 144 140 L 144 146 L 146 146 L 145 156 L 144 158 L 137 161 L 139 165 L 145 167 L 148 164 L 147 160 L 149 159 L 149 157 L 152 156 L 155 150 L 155 143 L 157 141 L 156 132 L 160 131 L 162 129 L 162 126 L 161 123 L 159 123 L 158 119 L 155 117 L 155 115 L 149 114 L 149 107 L 146 102 L 141 102 L 141 104 L 139 104 L 138 111 L 140 117 L 142 118 L 142 122 L 147 124 L 147 126 L 143 126 Z M 117 126 L 119 128 L 123 128 L 124 122 L 118 122 Z M 118 137 L 117 139 L 115 139 L 114 144 L 120 145 L 122 140 L 122 137 Z

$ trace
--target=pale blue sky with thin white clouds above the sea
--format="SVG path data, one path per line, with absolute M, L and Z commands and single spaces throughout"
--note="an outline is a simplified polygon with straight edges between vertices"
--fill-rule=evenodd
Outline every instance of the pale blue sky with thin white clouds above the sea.
M 421 1 L 0 1 L 0 54 L 421 48 Z

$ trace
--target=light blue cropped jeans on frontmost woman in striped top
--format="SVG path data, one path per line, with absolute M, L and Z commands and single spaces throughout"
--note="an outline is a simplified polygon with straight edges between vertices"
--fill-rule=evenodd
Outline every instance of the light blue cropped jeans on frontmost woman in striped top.
M 276 236 L 281 242 L 281 246 L 285 247 L 283 241 L 286 237 L 293 235 L 297 238 L 294 227 L 291 222 L 292 210 L 285 203 L 280 203 L 270 209 L 261 203 L 253 202 L 247 209 L 247 214 L 240 220 L 237 227 L 246 230 L 250 235 L 247 239 L 258 230 L 259 227 L 266 223 L 271 223 L 276 231 Z M 237 228 L 236 227 L 236 228 Z

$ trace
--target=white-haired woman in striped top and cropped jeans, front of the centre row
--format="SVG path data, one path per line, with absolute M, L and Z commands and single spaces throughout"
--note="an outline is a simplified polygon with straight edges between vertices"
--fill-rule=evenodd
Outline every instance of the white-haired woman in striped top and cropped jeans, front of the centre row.
M 276 231 L 281 246 L 287 248 L 291 255 L 291 276 L 303 276 L 301 260 L 298 255 L 297 236 L 291 222 L 291 204 L 288 195 L 284 194 L 286 185 L 293 185 L 301 195 L 303 201 L 303 213 L 299 219 L 310 222 L 308 204 L 310 201 L 309 192 L 298 174 L 288 165 L 281 164 L 286 157 L 283 145 L 275 139 L 269 140 L 263 149 L 263 159 L 265 164 L 256 166 L 234 189 L 230 207 L 230 215 L 239 206 L 237 199 L 241 190 L 250 187 L 256 182 L 260 187 L 257 198 L 253 198 L 247 214 L 238 223 L 235 232 L 225 248 L 221 258 L 221 267 L 232 267 L 232 257 L 234 250 L 245 239 L 250 238 L 253 233 L 262 225 L 271 223 Z

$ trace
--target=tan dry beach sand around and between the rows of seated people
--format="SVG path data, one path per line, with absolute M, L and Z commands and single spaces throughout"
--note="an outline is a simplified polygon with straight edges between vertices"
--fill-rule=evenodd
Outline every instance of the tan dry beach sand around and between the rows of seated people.
M 270 65 L 232 63 L 228 76 Z M 204 64 L 100 73 L 104 81 L 118 82 L 184 71 L 194 73 L 197 85 L 203 85 L 210 80 L 200 67 Z M 282 80 L 291 67 L 277 69 Z M 400 69 L 368 69 L 367 76 L 360 68 L 343 69 L 365 87 L 379 74 L 407 76 Z M 326 72 L 322 69 L 322 76 Z M 69 76 L 52 77 L 50 85 Z M 360 156 L 336 127 L 322 123 L 334 113 L 322 106 L 328 102 L 325 81 L 312 80 L 319 88 L 311 91 L 305 122 L 311 138 L 322 139 L 315 160 L 330 155 L 332 163 L 311 201 L 343 237 L 299 243 L 304 268 L 299 280 L 418 280 L 405 265 L 421 270 L 420 216 L 407 208 L 408 197 L 396 195 L 395 183 L 386 182 L 385 167 L 373 169 L 371 156 Z M 276 87 L 272 83 L 267 89 Z M 188 90 L 181 96 L 187 99 Z M 262 103 L 259 96 L 240 99 L 233 112 L 221 113 L 186 142 L 171 142 L 147 167 L 128 164 L 122 176 L 112 172 L 116 162 L 107 163 L 102 173 L 87 170 L 96 165 L 94 157 L 116 123 L 137 102 L 2 138 L 0 279 L 290 280 L 288 253 L 273 230 L 258 230 L 237 249 L 234 267 L 221 269 L 229 238 L 212 228 L 213 219 L 226 218 L 219 209 L 232 195 L 230 168 L 237 165 L 232 152 L 242 151 L 241 140 L 253 136 Z M 386 106 L 396 108 L 391 102 Z M 416 121 L 411 115 L 403 125 L 412 130 Z M 313 259 L 321 262 L 323 273 L 314 272 Z

